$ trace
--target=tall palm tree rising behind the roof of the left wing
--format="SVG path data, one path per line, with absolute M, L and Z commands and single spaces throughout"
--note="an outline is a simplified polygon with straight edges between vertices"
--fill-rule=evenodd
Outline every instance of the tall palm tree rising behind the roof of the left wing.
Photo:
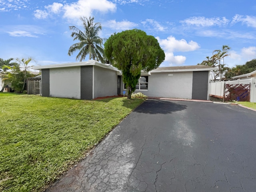
M 82 21 L 84 31 L 78 29 L 75 26 L 70 26 L 70 30 L 72 30 L 71 37 L 74 37 L 74 40 L 79 40 L 79 42 L 70 46 L 68 50 L 68 55 L 70 56 L 76 51 L 78 55 L 76 56 L 76 60 L 80 62 L 86 58 L 89 54 L 89 59 L 97 60 L 104 62 L 104 48 L 102 48 L 103 39 L 98 36 L 101 25 L 100 23 L 94 24 L 94 17 L 80 17 Z

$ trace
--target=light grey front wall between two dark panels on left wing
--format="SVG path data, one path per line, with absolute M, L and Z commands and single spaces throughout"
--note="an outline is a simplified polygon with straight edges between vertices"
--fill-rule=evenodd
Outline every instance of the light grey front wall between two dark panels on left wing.
M 51 68 L 50 96 L 80 99 L 80 67 Z

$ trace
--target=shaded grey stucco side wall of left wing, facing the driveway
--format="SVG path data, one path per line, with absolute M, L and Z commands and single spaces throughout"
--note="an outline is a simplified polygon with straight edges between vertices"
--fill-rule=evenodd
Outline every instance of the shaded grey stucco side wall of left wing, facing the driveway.
M 116 71 L 94 67 L 93 98 L 117 95 Z

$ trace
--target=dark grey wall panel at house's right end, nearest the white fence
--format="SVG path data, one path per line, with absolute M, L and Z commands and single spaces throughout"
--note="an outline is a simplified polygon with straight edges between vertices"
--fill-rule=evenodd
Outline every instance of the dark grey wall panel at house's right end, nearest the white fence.
M 194 71 L 192 99 L 208 99 L 208 71 Z

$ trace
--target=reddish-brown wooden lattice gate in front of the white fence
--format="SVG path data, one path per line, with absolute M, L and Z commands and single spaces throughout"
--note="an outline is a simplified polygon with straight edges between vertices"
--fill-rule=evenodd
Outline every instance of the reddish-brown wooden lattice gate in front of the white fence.
M 250 101 L 250 84 L 224 84 L 225 101 Z

